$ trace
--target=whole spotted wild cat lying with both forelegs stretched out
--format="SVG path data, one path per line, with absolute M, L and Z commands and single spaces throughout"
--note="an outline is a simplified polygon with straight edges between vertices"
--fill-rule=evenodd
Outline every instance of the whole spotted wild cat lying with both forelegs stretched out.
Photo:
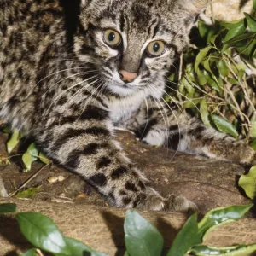
M 207 1 L 82 0 L 79 9 L 75 2 L 0 0 L 0 118 L 113 206 L 195 210 L 181 195 L 163 198 L 152 189 L 113 129 L 130 129 L 151 145 L 253 162 L 245 143 L 162 99 L 166 72 Z

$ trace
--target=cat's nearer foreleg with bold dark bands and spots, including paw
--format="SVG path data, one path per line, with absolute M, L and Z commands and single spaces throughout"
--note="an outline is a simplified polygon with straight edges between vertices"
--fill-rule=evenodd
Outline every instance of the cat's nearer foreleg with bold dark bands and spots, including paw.
M 108 113 L 90 106 L 78 117 L 48 119 L 36 131 L 40 148 L 55 163 L 79 173 L 117 207 L 195 211 L 183 197 L 164 199 L 132 165 L 112 135 Z

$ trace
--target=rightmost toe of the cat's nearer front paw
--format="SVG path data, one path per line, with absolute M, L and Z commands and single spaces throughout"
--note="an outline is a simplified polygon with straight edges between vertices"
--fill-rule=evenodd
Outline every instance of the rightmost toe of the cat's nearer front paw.
M 181 195 L 168 195 L 165 199 L 165 210 L 172 212 L 192 213 L 198 212 L 198 207 L 194 202 L 189 201 Z

